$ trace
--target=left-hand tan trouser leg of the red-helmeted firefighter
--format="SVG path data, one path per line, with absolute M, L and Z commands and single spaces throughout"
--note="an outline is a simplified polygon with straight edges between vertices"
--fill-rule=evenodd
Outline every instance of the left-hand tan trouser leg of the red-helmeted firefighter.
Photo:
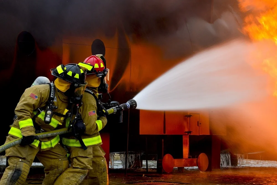
M 88 170 L 92 170 L 93 147 L 86 150 L 82 147 L 67 147 L 70 156 L 70 167 L 58 177 L 55 185 L 78 185 L 85 178 Z

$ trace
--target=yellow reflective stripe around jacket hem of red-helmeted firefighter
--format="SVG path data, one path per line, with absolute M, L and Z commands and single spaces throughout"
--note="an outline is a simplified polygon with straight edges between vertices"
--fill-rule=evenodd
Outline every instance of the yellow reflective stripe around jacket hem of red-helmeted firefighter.
M 86 146 L 97 145 L 102 142 L 100 135 L 93 137 L 93 138 L 86 138 L 86 139 L 82 139 L 82 140 Z M 76 141 L 76 139 L 62 138 L 62 144 L 66 145 L 66 146 L 81 147 L 79 140 Z

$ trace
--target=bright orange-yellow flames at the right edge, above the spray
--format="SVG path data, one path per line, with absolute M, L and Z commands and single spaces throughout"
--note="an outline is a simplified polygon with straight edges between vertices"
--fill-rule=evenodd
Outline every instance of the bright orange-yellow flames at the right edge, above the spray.
M 251 12 L 244 19 L 242 32 L 253 41 L 271 40 L 277 45 L 277 0 L 238 0 L 238 2 L 241 11 Z M 275 80 L 273 95 L 277 97 L 277 55 L 265 59 L 262 69 Z

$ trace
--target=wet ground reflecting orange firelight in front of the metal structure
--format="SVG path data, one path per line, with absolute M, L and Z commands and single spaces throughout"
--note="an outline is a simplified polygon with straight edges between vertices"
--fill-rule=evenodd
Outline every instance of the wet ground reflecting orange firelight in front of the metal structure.
M 32 176 L 27 179 L 26 184 L 41 184 L 43 178 Z M 171 184 L 277 184 L 277 168 L 271 167 L 247 167 L 221 169 L 211 172 L 185 171 L 184 173 L 174 172 L 172 174 L 156 174 L 153 172 L 132 172 L 127 173 L 109 173 L 109 184 L 147 184 L 142 182 L 151 182 L 148 184 L 164 184 L 154 182 L 171 182 Z M 87 184 L 86 180 L 82 184 Z

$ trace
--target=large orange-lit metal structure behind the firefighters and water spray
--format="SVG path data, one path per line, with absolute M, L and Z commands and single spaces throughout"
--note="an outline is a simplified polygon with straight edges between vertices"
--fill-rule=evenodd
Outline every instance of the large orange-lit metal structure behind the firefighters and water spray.
M 10 96 L 2 101 L 7 112 L 2 120 L 1 141 L 8 133 L 22 92 L 38 76 L 53 80 L 50 68 L 103 54 L 110 69 L 111 97 L 123 103 L 175 64 L 220 41 L 199 38 L 199 29 L 202 34 L 209 31 L 196 28 L 187 19 L 197 16 L 209 24 L 229 5 L 237 7 L 235 0 L 182 0 L 176 1 L 175 7 L 168 1 L 156 5 L 143 1 L 144 6 L 120 2 L 0 2 L 1 87 L 12 89 L 1 91 L 1 97 Z M 146 7 L 153 10 L 144 10 Z M 219 168 L 221 142 L 217 136 L 226 134 L 226 125 L 213 119 L 215 114 L 203 110 L 130 110 L 130 115 L 124 113 L 123 124 L 110 117 L 101 131 L 106 160 L 109 162 L 109 152 L 126 150 L 128 132 L 129 151 L 147 150 L 142 141 L 151 138 L 148 153 L 157 154 L 160 172 L 162 168 L 171 172 L 173 167 L 187 166 L 198 166 L 202 171 Z M 221 129 L 212 133 L 214 127 Z

